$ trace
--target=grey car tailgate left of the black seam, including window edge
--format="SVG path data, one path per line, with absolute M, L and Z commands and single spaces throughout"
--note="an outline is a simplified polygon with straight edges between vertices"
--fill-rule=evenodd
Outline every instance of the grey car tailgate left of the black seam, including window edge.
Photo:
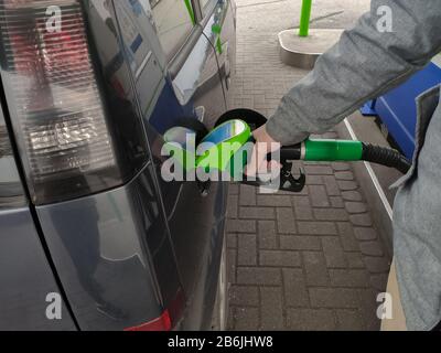
M 0 330 L 76 329 L 28 206 L 1 106 L 0 285 Z M 46 317 L 53 293 L 61 318 Z

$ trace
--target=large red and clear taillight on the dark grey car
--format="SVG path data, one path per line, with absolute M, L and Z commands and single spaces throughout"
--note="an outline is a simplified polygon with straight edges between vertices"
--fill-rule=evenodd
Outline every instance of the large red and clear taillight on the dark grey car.
M 111 186 L 112 140 L 79 0 L 0 0 L 3 87 L 36 204 Z

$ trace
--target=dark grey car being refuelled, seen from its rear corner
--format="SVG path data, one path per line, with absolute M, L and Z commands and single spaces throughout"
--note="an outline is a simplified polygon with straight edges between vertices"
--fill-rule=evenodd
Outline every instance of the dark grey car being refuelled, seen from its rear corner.
M 227 185 L 160 168 L 228 108 L 234 3 L 0 0 L 0 330 L 222 329 Z

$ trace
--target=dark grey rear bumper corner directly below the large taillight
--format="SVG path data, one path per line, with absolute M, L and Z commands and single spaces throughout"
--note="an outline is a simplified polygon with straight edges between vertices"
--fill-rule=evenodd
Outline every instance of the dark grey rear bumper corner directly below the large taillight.
M 126 186 L 36 212 L 82 330 L 149 322 L 178 295 L 150 165 Z

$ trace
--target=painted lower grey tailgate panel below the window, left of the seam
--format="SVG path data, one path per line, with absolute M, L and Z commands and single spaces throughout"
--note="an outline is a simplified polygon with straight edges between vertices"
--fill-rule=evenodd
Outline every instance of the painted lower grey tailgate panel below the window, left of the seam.
M 29 207 L 0 211 L 0 330 L 76 330 Z M 52 293 L 61 319 L 46 317 L 46 310 L 53 312 Z

